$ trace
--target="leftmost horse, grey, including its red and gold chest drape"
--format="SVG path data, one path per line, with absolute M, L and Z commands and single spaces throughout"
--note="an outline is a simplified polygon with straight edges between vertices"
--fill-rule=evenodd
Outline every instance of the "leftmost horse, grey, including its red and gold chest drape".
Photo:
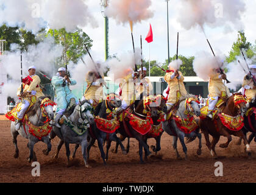
M 43 141 L 47 144 L 47 149 L 43 150 L 43 154 L 49 154 L 52 147 L 48 137 L 48 134 L 52 129 L 52 127 L 49 126 L 49 121 L 54 119 L 54 112 L 52 109 L 54 105 L 55 103 L 51 101 L 50 96 L 41 96 L 26 113 L 27 120 L 24 120 L 20 129 L 15 129 L 15 121 L 11 122 L 10 131 L 12 133 L 13 144 L 15 145 L 14 158 L 19 157 L 19 149 L 17 146 L 18 135 L 29 140 L 29 143 L 27 144 L 27 147 L 29 147 L 29 157 L 27 158 L 27 161 L 29 161 L 29 163 L 31 163 L 31 161 L 37 161 L 34 145 L 38 141 Z

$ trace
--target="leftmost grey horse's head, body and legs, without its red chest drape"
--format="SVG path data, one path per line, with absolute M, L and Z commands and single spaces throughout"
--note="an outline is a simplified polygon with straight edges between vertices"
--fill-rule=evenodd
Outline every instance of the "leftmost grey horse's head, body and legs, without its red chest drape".
M 48 101 L 50 104 L 42 104 L 41 102 Z M 53 119 L 54 118 L 54 112 L 53 112 L 53 102 L 51 101 L 51 98 L 49 96 L 42 96 L 38 98 L 37 102 L 30 108 L 30 110 L 27 112 L 27 117 L 28 121 L 36 126 L 36 127 L 42 127 L 48 121 L 48 119 Z M 43 109 L 44 108 L 44 109 Z M 38 141 L 43 141 L 44 143 L 47 144 L 47 149 L 43 150 L 44 155 L 48 155 L 49 152 L 51 151 L 51 142 L 49 141 L 48 136 L 43 136 L 41 138 L 35 137 L 32 135 L 32 133 L 29 132 L 29 126 L 27 124 L 21 125 L 19 130 L 15 129 L 15 122 L 11 122 L 10 130 L 12 133 L 13 137 L 13 144 L 15 145 L 15 154 L 14 158 L 19 157 L 19 149 L 17 146 L 17 137 L 18 135 L 21 135 L 22 137 L 26 138 L 29 140 L 29 143 L 27 144 L 27 147 L 29 147 L 29 158 L 27 158 L 27 161 L 29 163 L 31 161 L 37 161 L 37 157 L 34 152 L 34 145 Z

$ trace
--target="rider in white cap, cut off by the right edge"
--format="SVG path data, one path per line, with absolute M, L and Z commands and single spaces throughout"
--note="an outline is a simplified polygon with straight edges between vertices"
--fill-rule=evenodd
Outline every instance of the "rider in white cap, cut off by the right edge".
M 251 69 L 251 73 L 252 76 L 254 77 L 254 80 L 256 80 L 256 65 L 250 65 L 249 68 Z M 244 94 L 246 98 L 249 100 L 254 98 L 256 94 L 256 83 L 254 83 L 254 80 L 252 79 L 251 74 L 249 73 L 246 76 L 244 76 Z

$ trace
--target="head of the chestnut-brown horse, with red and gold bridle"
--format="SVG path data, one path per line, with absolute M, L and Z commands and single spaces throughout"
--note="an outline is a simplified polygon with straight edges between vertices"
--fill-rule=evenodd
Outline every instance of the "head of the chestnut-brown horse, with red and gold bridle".
M 247 112 L 246 103 L 246 99 L 241 93 L 233 93 L 227 101 L 227 106 L 230 110 L 233 110 L 233 112 L 237 112 L 236 110 L 239 110 L 239 112 L 244 115 L 244 113 Z

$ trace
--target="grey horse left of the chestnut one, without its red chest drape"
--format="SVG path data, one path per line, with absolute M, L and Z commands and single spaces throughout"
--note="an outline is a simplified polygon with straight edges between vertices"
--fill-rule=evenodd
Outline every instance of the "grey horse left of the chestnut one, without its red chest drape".
M 199 116 L 201 114 L 199 105 L 196 101 L 190 101 L 190 103 L 186 103 L 187 98 L 194 98 L 194 96 L 187 96 L 186 98 L 183 98 L 179 102 L 179 108 L 177 109 L 176 116 L 181 116 L 182 119 L 188 119 L 188 116 L 191 116 L 193 113 L 196 116 Z M 185 114 L 186 113 L 186 114 Z M 190 113 L 188 115 L 187 113 Z M 184 137 L 189 137 L 189 138 L 195 138 L 197 137 L 199 140 L 199 146 L 197 149 L 197 155 L 201 155 L 201 148 L 202 148 L 202 143 L 201 143 L 201 133 L 199 133 L 199 127 L 194 130 L 191 133 L 184 133 L 182 130 L 177 127 L 176 121 L 174 119 L 169 119 L 168 121 L 163 121 L 162 122 L 162 127 L 163 130 L 168 133 L 169 135 L 173 136 L 172 140 L 172 146 L 174 147 L 174 150 L 176 151 L 177 158 L 180 159 L 179 152 L 177 151 L 177 139 L 179 137 L 180 143 L 182 144 L 183 147 L 183 152 L 185 153 L 185 160 L 188 160 L 187 157 L 187 147 L 184 142 Z

